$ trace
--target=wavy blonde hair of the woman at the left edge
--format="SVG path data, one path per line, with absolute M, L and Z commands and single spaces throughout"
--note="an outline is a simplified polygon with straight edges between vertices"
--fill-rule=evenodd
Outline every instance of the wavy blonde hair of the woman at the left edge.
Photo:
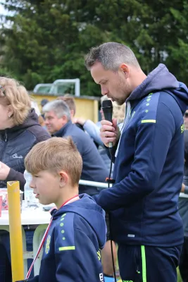
M 0 77 L 0 104 L 12 106 L 13 116 L 11 118 L 14 125 L 22 124 L 31 109 L 30 96 L 27 90 L 13 78 Z

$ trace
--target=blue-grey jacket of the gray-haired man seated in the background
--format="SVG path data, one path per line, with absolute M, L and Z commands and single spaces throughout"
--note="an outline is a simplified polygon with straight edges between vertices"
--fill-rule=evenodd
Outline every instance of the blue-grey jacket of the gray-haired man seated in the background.
M 78 128 L 75 124 L 68 121 L 61 130 L 55 134 L 57 137 L 70 136 L 73 142 L 77 146 L 83 160 L 82 168 L 82 180 L 105 182 L 108 177 L 108 170 L 101 158 L 96 146 L 92 139 L 84 133 L 83 130 Z M 87 193 L 89 195 L 95 195 L 99 193 L 98 188 L 92 186 L 79 186 L 79 193 Z

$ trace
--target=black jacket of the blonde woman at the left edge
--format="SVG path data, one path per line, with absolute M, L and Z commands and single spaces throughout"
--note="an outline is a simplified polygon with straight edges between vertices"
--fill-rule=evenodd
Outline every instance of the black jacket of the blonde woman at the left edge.
M 23 124 L 0 130 L 0 161 L 11 168 L 6 180 L 0 180 L 0 188 L 6 188 L 7 181 L 18 180 L 20 190 L 24 189 L 25 156 L 35 144 L 49 138 L 49 133 L 38 123 L 35 109 Z

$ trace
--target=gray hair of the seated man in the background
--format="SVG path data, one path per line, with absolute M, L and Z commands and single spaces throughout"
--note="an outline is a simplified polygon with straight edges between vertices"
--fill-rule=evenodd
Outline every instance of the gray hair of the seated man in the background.
M 68 105 L 62 100 L 55 100 L 47 103 L 42 108 L 42 111 L 44 113 L 48 111 L 54 111 L 54 113 L 58 118 L 62 118 L 62 116 L 66 116 L 68 118 L 68 121 L 70 121 L 70 109 Z

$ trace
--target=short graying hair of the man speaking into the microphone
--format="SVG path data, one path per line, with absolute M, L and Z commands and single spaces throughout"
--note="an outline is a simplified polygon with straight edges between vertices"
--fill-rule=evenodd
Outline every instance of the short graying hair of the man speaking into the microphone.
M 107 42 L 93 47 L 85 56 L 85 66 L 88 71 L 96 62 L 100 62 L 106 71 L 118 71 L 121 63 L 140 68 L 133 51 L 126 45 L 117 42 Z

